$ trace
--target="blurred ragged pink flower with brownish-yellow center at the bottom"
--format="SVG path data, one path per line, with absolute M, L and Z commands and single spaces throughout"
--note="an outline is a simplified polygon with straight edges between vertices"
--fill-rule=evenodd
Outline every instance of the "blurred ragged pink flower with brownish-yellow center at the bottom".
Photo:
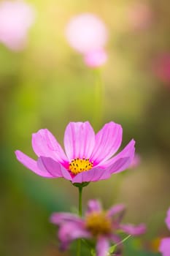
M 50 221 L 59 226 L 58 238 L 61 241 L 61 249 L 67 249 L 77 238 L 94 239 L 96 255 L 107 256 L 110 242 L 121 248 L 121 238 L 118 235 L 120 230 L 132 236 L 139 236 L 146 230 L 143 224 L 121 224 L 124 210 L 125 207 L 119 204 L 112 206 L 108 211 L 103 211 L 98 200 L 90 200 L 84 218 L 75 214 L 54 213 Z

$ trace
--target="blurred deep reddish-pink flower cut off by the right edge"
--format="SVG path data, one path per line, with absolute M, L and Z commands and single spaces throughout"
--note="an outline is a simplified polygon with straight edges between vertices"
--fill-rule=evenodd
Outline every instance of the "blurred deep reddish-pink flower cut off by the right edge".
M 170 53 L 163 53 L 153 63 L 153 72 L 165 83 L 170 83 Z

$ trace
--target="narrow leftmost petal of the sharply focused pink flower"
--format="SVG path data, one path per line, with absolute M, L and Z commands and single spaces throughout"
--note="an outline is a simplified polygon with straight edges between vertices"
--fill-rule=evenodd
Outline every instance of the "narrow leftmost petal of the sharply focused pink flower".
M 37 162 L 34 159 L 31 159 L 26 154 L 23 154 L 23 152 L 17 150 L 15 151 L 15 155 L 19 162 L 21 162 L 24 166 L 26 166 L 28 169 L 32 170 L 34 173 L 38 174 L 39 176 L 45 177 L 45 178 L 55 178 L 53 175 L 47 172 L 45 168 L 39 168 L 37 165 Z

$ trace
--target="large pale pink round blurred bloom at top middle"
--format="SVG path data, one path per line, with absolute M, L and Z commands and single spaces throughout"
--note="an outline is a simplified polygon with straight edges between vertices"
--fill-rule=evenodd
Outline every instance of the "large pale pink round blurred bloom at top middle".
M 91 13 L 74 16 L 66 26 L 69 44 L 80 53 L 89 53 L 104 48 L 108 32 L 103 21 Z

